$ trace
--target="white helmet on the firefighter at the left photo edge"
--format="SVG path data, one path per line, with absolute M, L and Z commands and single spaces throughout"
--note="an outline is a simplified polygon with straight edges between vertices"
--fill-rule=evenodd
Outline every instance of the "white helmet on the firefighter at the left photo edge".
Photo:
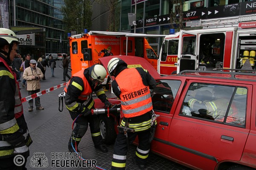
M 7 45 L 8 44 L 12 44 L 12 42 L 17 42 L 18 44 L 20 43 L 19 40 L 16 37 L 16 34 L 7 28 L 0 28 L 0 45 Z

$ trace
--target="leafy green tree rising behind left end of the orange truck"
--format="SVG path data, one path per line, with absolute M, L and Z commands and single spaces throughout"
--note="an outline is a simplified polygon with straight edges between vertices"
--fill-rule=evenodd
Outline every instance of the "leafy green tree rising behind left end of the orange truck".
M 92 4 L 90 0 L 64 0 L 65 6 L 61 7 L 64 16 L 65 32 L 84 32 L 84 28 L 90 30 L 92 25 Z M 78 19 L 77 19 L 78 18 Z

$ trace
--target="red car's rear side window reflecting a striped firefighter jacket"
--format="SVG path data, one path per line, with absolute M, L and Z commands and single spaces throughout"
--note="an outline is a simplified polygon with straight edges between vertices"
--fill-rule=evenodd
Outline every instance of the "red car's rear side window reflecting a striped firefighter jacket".
M 245 127 L 247 88 L 192 83 L 182 115 Z

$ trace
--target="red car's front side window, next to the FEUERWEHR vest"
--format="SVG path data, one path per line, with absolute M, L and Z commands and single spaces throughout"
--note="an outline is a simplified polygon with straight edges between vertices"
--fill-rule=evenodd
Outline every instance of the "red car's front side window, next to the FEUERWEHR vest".
M 179 80 L 157 80 L 157 86 L 151 90 L 154 111 L 171 111 L 180 84 Z

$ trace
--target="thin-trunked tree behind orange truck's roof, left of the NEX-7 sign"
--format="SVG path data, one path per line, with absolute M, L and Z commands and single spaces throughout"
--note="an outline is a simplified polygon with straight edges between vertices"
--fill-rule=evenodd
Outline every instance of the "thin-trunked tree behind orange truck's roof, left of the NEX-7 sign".
M 102 6 L 106 6 L 109 9 L 108 13 L 108 30 L 109 31 L 118 31 L 120 23 L 120 8 L 117 8 L 119 0 L 95 0 L 95 3 L 98 3 Z

